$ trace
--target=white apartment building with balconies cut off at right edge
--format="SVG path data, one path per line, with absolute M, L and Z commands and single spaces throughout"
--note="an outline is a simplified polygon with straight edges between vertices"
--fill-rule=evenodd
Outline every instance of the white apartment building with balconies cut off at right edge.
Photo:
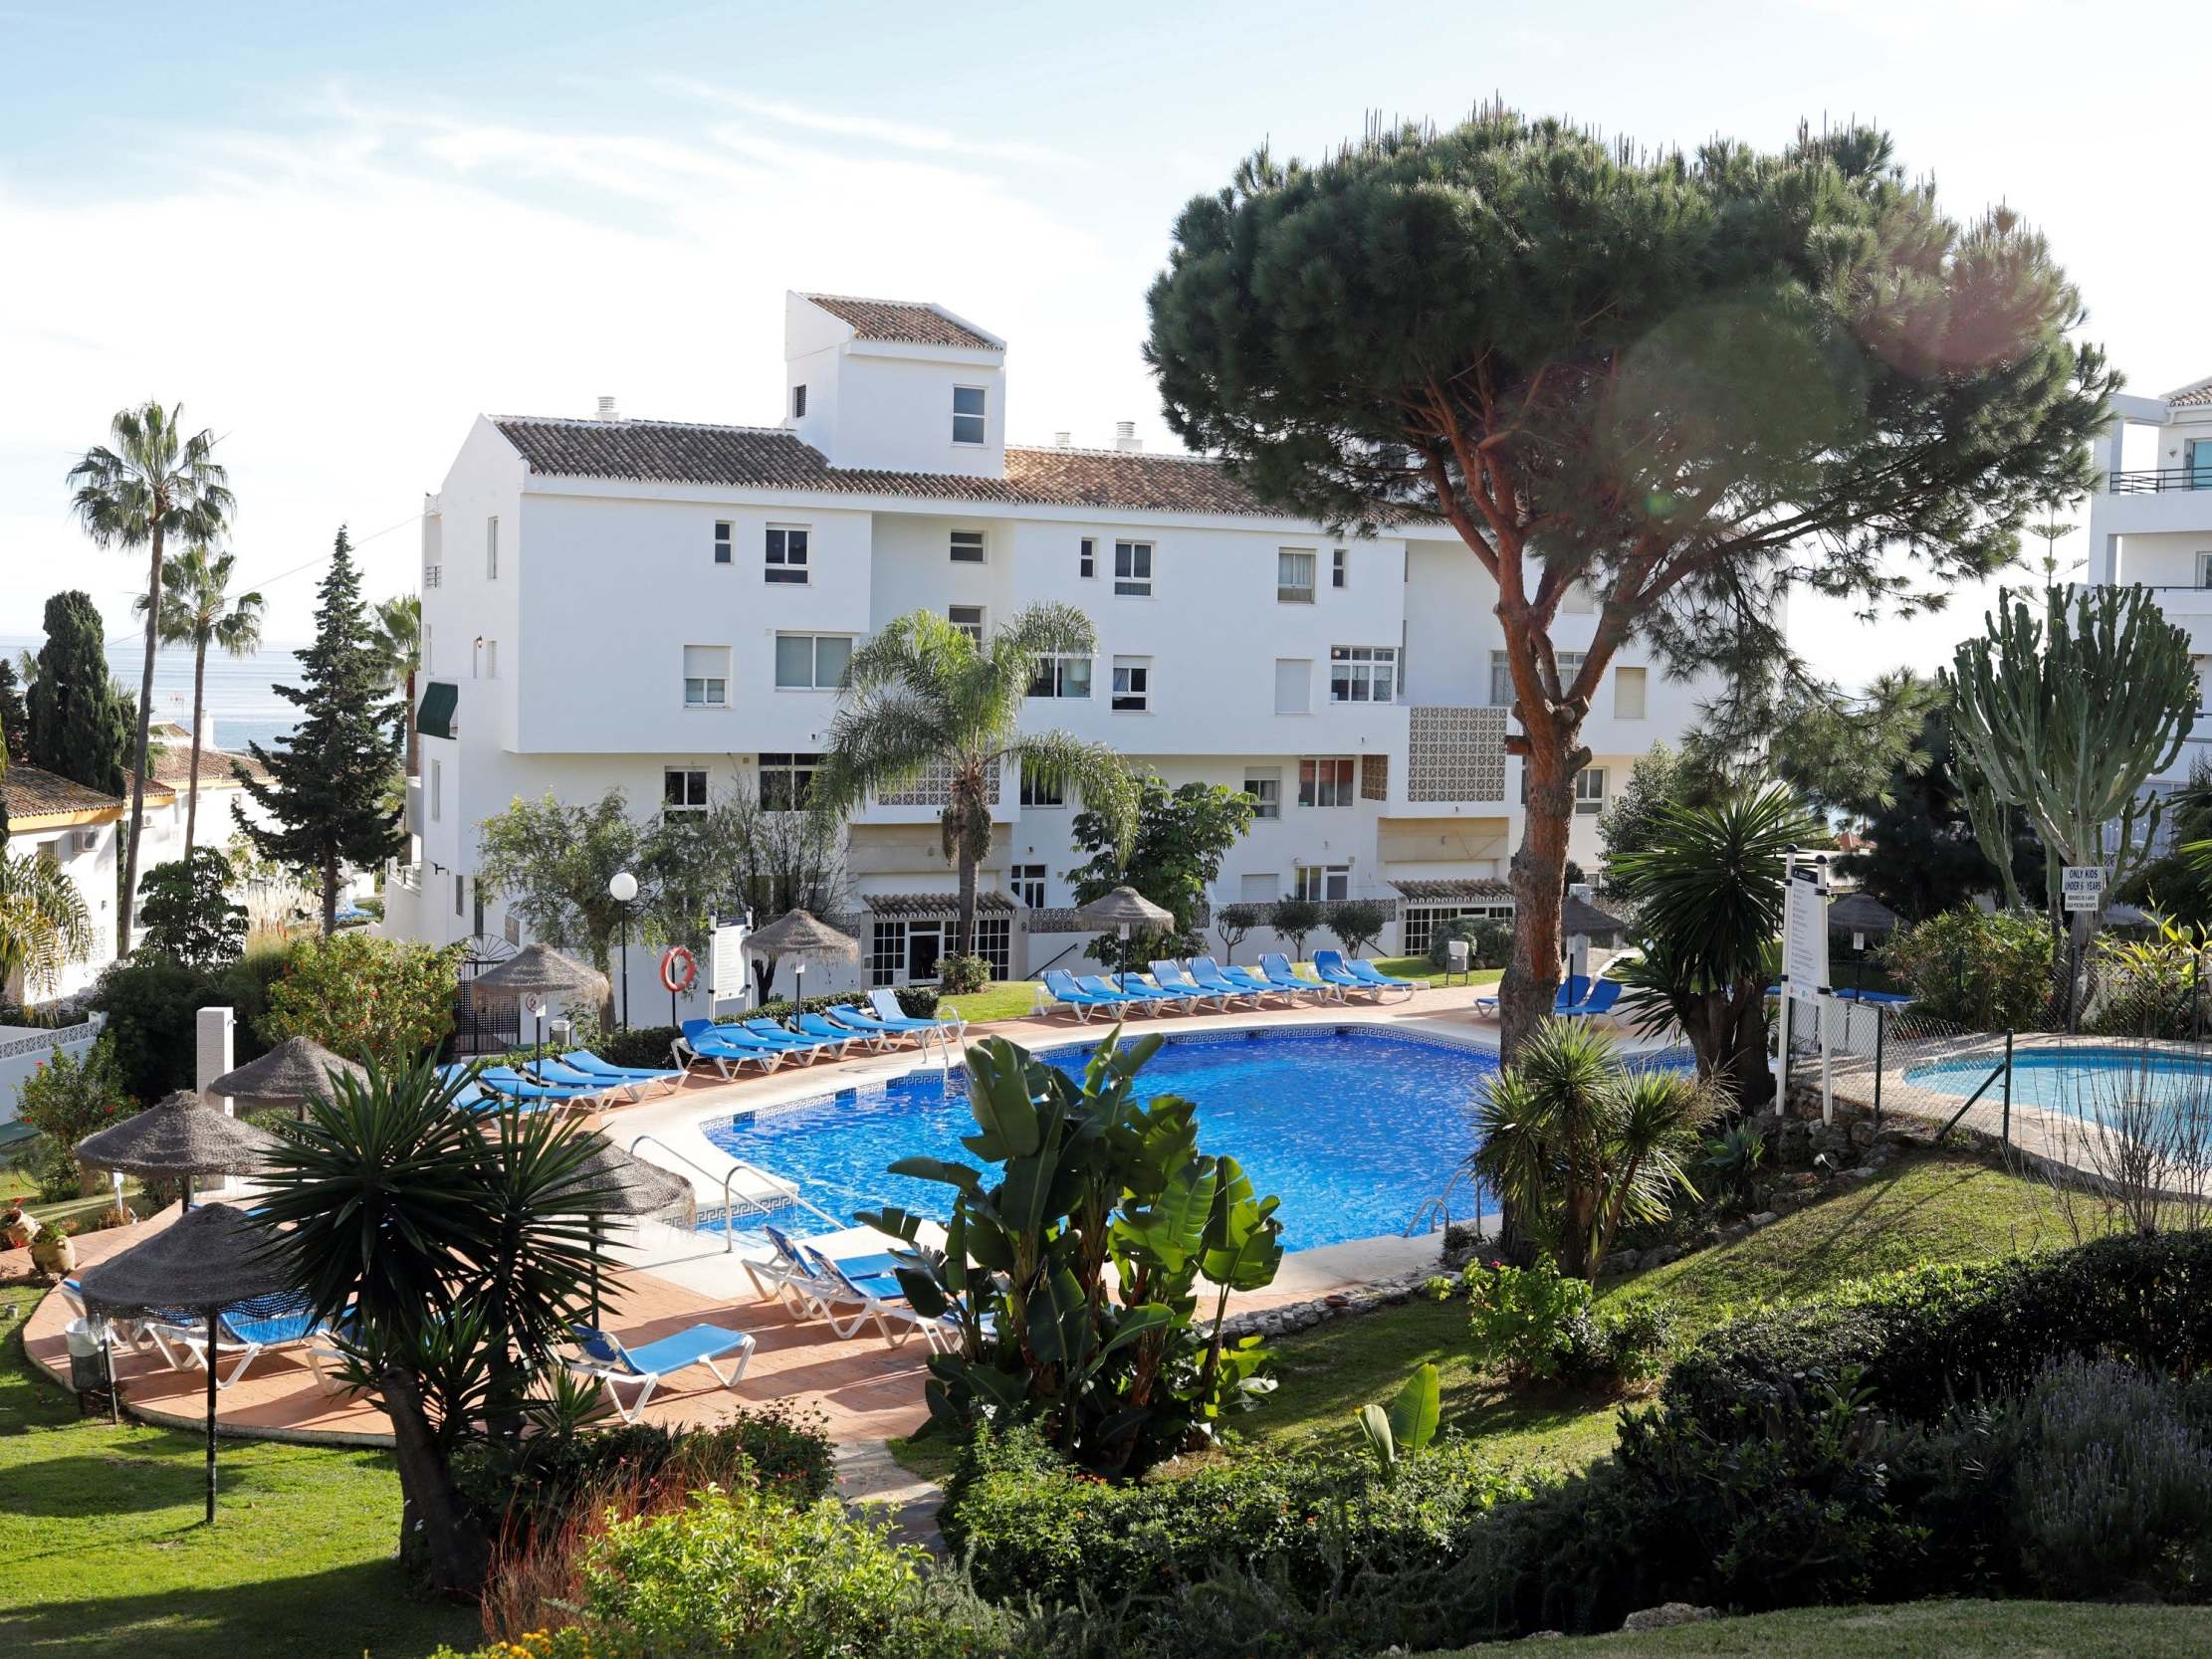
M 2197 655 L 2197 730 L 2154 779 L 2172 790 L 2212 761 L 2212 378 L 2163 398 L 2115 396 L 2097 460 L 2088 580 L 2150 588 Z

